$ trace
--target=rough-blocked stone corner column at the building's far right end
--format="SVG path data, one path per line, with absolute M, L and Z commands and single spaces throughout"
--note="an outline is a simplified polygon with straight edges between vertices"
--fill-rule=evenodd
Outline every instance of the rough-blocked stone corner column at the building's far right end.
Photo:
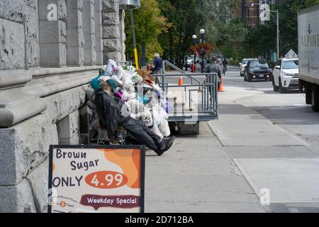
M 119 1 L 102 0 L 103 63 L 121 61 Z

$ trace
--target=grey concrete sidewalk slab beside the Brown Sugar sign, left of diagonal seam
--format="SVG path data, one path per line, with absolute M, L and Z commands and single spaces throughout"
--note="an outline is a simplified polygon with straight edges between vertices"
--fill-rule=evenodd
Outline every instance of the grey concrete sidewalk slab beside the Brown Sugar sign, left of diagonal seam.
M 264 212 L 208 123 L 178 136 L 162 157 L 147 152 L 146 212 Z

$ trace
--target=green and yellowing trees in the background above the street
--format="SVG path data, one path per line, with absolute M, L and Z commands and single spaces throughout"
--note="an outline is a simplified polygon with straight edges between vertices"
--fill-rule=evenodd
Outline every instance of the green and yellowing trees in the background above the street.
M 252 28 L 237 11 L 241 0 L 141 0 L 141 8 L 134 11 L 138 52 L 147 43 L 147 57 L 159 52 L 164 59 L 181 67 L 184 57 L 190 55 L 192 35 L 206 30 L 206 43 L 213 43 L 213 52 L 232 57 L 234 62 L 243 57 L 268 57 L 276 51 L 276 13 L 271 21 Z M 298 51 L 297 13 L 319 4 L 319 0 L 285 0 L 272 5 L 279 9 L 281 53 L 291 48 Z M 133 38 L 130 16 L 125 17 L 126 53 L 133 57 Z

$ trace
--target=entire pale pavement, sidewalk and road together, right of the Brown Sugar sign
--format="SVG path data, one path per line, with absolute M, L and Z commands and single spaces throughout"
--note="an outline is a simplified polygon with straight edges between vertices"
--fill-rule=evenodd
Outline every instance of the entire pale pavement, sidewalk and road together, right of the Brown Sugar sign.
M 169 82 L 172 82 L 168 79 Z M 218 121 L 147 153 L 146 212 L 318 212 L 319 114 L 230 67 Z

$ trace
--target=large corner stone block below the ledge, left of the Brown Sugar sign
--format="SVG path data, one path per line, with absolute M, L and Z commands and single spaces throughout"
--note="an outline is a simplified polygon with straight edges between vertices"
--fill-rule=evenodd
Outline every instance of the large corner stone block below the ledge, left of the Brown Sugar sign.
M 0 144 L 0 185 L 16 185 L 47 159 L 49 145 L 57 144 L 57 128 L 47 114 L 39 114 L 1 128 Z

